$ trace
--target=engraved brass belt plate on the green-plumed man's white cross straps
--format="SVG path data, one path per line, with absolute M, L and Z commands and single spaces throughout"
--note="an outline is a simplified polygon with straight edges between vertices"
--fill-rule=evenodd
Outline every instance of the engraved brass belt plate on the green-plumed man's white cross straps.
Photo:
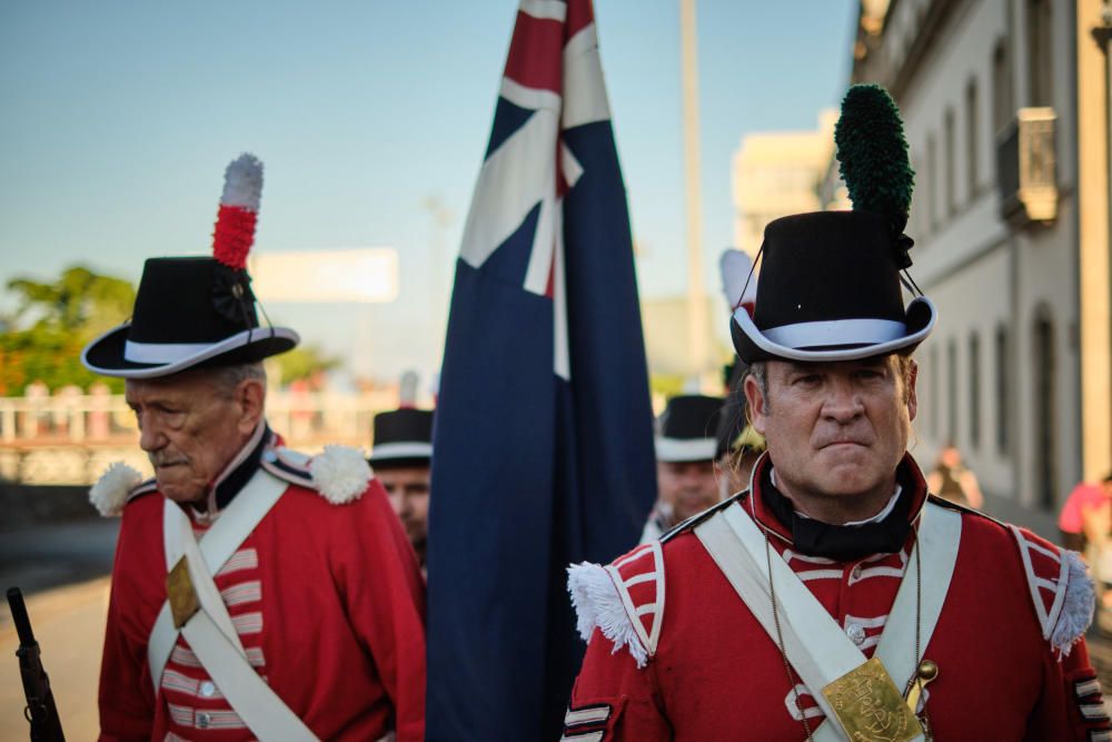
M 877 657 L 824 687 L 823 695 L 852 742 L 911 742 L 923 734 Z

